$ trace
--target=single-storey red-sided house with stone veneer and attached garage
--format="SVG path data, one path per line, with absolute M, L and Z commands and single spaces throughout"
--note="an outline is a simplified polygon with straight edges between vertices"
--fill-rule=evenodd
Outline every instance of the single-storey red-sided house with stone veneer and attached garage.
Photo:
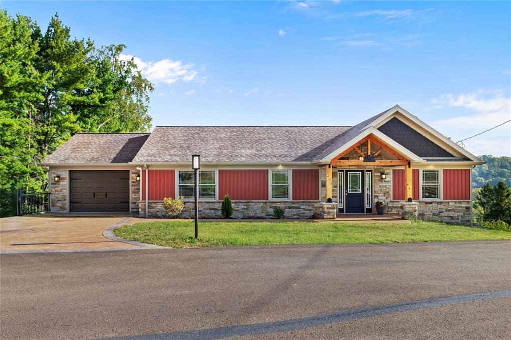
M 479 158 L 400 106 L 347 126 L 157 126 L 152 133 L 78 133 L 42 163 L 53 212 L 164 216 L 193 211 L 191 155 L 200 154 L 199 216 L 334 218 L 376 212 L 470 225 Z

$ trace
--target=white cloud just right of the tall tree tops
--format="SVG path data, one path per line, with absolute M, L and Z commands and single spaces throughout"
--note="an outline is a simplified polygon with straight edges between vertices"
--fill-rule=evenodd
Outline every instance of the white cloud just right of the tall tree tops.
M 155 84 L 174 84 L 179 80 L 183 82 L 197 80 L 198 72 L 194 69 L 194 64 L 185 64 L 181 60 L 167 58 L 145 62 L 138 57 L 125 54 L 121 54 L 119 58 L 121 60 L 130 60 L 133 58 L 133 62 L 136 64 L 138 70 L 142 72 L 142 75 Z M 202 79 L 205 81 L 205 77 L 202 77 L 199 81 L 201 82 Z

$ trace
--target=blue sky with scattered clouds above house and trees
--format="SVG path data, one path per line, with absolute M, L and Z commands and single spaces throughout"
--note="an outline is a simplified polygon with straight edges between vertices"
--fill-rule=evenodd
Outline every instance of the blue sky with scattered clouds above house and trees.
M 395 104 L 459 140 L 511 119 L 509 2 L 3 2 L 123 43 L 155 125 L 354 125 Z M 469 139 L 511 155 L 511 124 Z

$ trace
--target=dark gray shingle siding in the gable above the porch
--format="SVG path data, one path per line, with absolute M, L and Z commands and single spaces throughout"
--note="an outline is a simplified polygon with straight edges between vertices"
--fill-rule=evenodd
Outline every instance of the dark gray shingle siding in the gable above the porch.
M 454 157 L 447 150 L 441 148 L 396 117 L 383 124 L 378 130 L 420 157 Z

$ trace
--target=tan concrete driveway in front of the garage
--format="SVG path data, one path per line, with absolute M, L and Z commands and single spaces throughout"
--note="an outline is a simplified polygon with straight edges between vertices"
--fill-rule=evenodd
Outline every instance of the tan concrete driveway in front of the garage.
M 0 220 L 0 252 L 115 250 L 137 246 L 104 237 L 130 214 L 41 214 Z

